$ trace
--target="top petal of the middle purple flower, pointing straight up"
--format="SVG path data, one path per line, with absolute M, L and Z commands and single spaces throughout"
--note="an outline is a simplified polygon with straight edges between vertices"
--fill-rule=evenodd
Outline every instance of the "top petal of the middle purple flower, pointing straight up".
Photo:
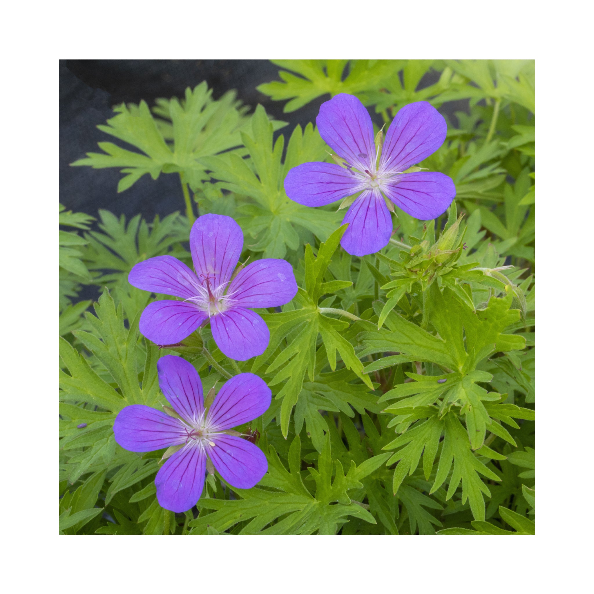
M 244 234 L 231 217 L 222 214 L 198 217 L 189 233 L 198 280 L 204 284 L 208 277 L 213 289 L 224 285 L 231 278 L 243 247 Z

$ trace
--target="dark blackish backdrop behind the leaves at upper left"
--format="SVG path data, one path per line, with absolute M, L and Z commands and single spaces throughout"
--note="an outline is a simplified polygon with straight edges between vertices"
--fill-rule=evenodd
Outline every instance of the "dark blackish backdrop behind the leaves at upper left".
M 112 107 L 119 103 L 146 100 L 154 105 L 158 97 L 182 97 L 187 87 L 206 80 L 214 99 L 236 89 L 238 99 L 251 106 L 258 103 L 276 119 L 289 122 L 276 134 L 292 132 L 297 124 L 315 122 L 321 103 L 329 95 L 319 97 L 296 112 L 283 113 L 285 102 L 273 101 L 255 87 L 279 80 L 279 67 L 267 60 L 61 60 L 60 72 L 60 202 L 68 209 L 97 216 L 106 208 L 127 219 L 137 213 L 149 221 L 155 214 L 163 217 L 175 210 L 184 210 L 178 175 L 161 174 L 157 181 L 143 176 L 131 188 L 117 192 L 122 174 L 119 169 L 71 167 L 70 163 L 86 153 L 100 152 L 97 142 L 121 141 L 101 132 L 97 124 L 115 115 Z M 431 72 L 421 87 L 434 83 L 438 74 Z M 451 117 L 459 102 L 440 109 Z M 379 125 L 381 116 L 369 110 Z M 137 149 L 134 149 L 137 150 Z

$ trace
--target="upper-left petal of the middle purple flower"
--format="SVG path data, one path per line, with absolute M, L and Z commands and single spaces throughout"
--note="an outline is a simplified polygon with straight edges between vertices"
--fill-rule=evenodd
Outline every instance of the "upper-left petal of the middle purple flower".
M 196 295 L 196 275 L 173 256 L 157 256 L 136 264 L 128 274 L 128 282 L 144 291 L 175 295 L 188 299 Z

